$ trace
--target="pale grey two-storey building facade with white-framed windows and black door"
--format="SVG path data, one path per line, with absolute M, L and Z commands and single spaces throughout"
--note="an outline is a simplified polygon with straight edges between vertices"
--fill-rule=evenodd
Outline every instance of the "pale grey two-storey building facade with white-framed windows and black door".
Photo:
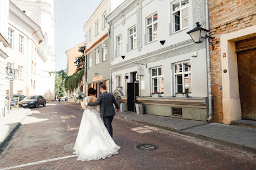
M 206 121 L 205 44 L 186 34 L 205 22 L 203 6 L 203 0 L 125 1 L 108 15 L 112 89 L 126 110 L 142 102 L 148 114 Z

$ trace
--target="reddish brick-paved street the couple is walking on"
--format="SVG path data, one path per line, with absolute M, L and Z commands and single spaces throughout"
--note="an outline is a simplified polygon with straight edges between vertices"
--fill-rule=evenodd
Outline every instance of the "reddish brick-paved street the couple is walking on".
M 37 112 L 28 116 L 2 153 L 0 169 L 72 155 L 64 146 L 75 143 L 83 110 L 58 102 L 33 110 Z M 118 155 L 98 161 L 69 157 L 17 169 L 256 169 L 253 153 L 117 117 L 113 128 L 114 140 L 121 146 Z M 139 151 L 135 149 L 139 143 L 152 143 L 159 148 Z

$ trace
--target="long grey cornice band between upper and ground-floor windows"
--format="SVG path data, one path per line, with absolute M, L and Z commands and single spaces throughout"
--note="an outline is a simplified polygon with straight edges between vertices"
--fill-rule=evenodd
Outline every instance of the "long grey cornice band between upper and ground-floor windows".
M 144 54 L 142 56 L 121 62 L 119 64 L 112 65 L 111 72 L 116 72 L 118 70 L 132 68 L 134 66 L 137 66 L 137 64 L 134 64 L 134 62 L 148 64 L 150 62 L 154 62 L 157 60 L 164 60 L 165 58 L 179 56 L 181 54 L 193 52 L 195 50 L 200 50 L 200 49 L 204 49 L 204 48 L 205 48 L 204 43 L 195 44 L 195 43 L 193 43 L 192 39 L 188 39 L 187 41 L 180 42 L 179 44 L 167 46 L 165 48 L 156 50 L 154 52 L 150 52 L 150 53 Z

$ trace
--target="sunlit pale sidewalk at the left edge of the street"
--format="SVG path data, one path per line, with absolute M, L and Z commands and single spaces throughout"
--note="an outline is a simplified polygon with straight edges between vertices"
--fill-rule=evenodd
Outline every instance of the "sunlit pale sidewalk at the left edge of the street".
M 26 118 L 30 109 L 20 108 L 19 110 L 10 110 L 9 113 L 0 119 L 0 151 L 11 135 L 21 125 L 20 122 Z

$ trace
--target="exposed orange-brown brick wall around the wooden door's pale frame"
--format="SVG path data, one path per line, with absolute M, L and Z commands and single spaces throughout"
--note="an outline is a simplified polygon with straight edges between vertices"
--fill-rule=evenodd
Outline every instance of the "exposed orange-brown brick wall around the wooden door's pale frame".
M 210 34 L 215 37 L 211 47 L 212 98 L 214 117 L 212 121 L 223 122 L 222 112 L 222 68 L 220 35 L 256 25 L 255 0 L 209 0 Z M 256 30 L 255 30 L 256 32 Z

